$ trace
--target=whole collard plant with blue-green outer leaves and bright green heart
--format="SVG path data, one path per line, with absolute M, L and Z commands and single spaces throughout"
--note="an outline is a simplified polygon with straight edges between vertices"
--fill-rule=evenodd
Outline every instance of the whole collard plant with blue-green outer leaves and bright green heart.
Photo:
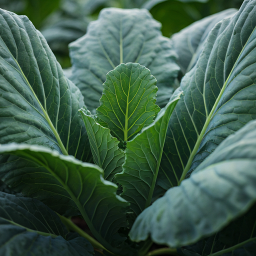
M 0 9 L 0 254 L 255 256 L 255 13 L 245 0 L 173 47 L 146 10 L 104 9 L 70 47 L 83 99 Z

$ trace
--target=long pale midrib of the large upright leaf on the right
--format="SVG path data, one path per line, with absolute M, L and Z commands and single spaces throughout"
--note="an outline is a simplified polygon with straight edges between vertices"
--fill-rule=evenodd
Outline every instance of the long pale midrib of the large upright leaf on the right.
M 224 93 L 224 90 L 225 90 L 225 88 L 226 88 L 227 82 L 228 82 L 228 80 L 229 80 L 229 78 L 230 78 L 230 76 L 231 76 L 231 74 L 232 74 L 234 68 L 236 67 L 237 61 L 239 60 L 239 57 L 240 57 L 240 55 L 242 54 L 242 52 L 243 52 L 245 46 L 247 45 L 247 43 L 248 43 L 248 41 L 249 41 L 249 39 L 250 39 L 250 37 L 251 37 L 253 31 L 255 30 L 255 28 L 256 28 L 256 27 L 254 27 L 254 29 L 252 30 L 252 32 L 251 32 L 250 36 L 248 37 L 246 43 L 245 43 L 244 46 L 242 47 L 242 49 L 241 49 L 241 51 L 240 51 L 240 53 L 239 53 L 239 55 L 238 55 L 238 57 L 237 57 L 237 59 L 236 59 L 234 65 L 233 65 L 233 67 L 232 67 L 232 69 L 231 69 L 231 71 L 230 71 L 228 77 L 226 78 L 225 83 L 223 84 L 223 86 L 222 86 L 222 88 L 221 88 L 221 90 L 220 90 L 220 92 L 219 92 L 219 94 L 218 94 L 218 97 L 217 97 L 217 99 L 216 99 L 216 101 L 215 101 L 215 103 L 214 103 L 214 105 L 213 105 L 213 107 L 212 107 L 212 109 L 211 109 L 211 111 L 210 111 L 208 117 L 206 118 L 206 121 L 205 121 L 205 123 L 204 123 L 204 125 L 203 125 L 203 127 L 202 127 L 202 130 L 201 130 L 201 132 L 200 132 L 200 135 L 199 135 L 199 137 L 198 137 L 197 140 L 196 140 L 196 143 L 195 143 L 195 145 L 194 145 L 194 148 L 193 148 L 193 150 L 192 150 L 192 153 L 190 154 L 190 156 L 189 156 L 189 158 L 188 158 L 188 161 L 187 161 L 187 164 L 186 164 L 185 168 L 183 169 L 183 172 L 182 172 L 182 175 L 181 175 L 181 177 L 180 177 L 180 179 L 179 179 L 178 185 L 179 185 L 179 184 L 181 183 L 181 181 L 185 178 L 186 173 L 187 173 L 188 170 L 190 169 L 190 166 L 191 166 L 191 164 L 192 164 L 193 158 L 194 158 L 194 156 L 195 156 L 195 154 L 196 154 L 196 152 L 197 152 L 197 150 L 198 150 L 198 148 L 199 148 L 199 146 L 200 146 L 201 140 L 202 140 L 202 138 L 203 138 L 203 136 L 204 136 L 204 133 L 205 133 L 205 131 L 206 131 L 208 125 L 209 125 L 209 122 L 210 122 L 211 117 L 212 117 L 212 115 L 213 115 L 213 113 L 214 113 L 214 111 L 215 111 L 215 109 L 216 109 L 216 107 L 217 107 L 217 104 L 218 104 L 218 102 L 219 102 L 219 100 L 220 100 L 222 94 Z

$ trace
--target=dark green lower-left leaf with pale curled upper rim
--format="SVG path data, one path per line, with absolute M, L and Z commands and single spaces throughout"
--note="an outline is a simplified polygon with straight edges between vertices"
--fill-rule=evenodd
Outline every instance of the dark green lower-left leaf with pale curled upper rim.
M 120 252 L 125 237 L 117 231 L 127 225 L 128 203 L 116 195 L 117 185 L 102 178 L 100 167 L 42 146 L 10 143 L 0 145 L 3 153 L 0 177 L 6 184 L 59 214 L 81 214 L 105 248 Z M 20 159 L 13 161 L 12 154 Z

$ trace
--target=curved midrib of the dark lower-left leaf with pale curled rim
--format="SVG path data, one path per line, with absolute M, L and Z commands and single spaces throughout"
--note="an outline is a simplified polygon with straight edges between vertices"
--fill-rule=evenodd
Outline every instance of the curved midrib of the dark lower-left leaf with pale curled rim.
M 30 157 L 30 155 L 28 155 L 28 157 Z M 37 162 L 38 164 L 40 164 L 41 166 L 43 166 L 45 169 L 47 169 L 51 175 L 65 188 L 65 190 L 69 193 L 69 195 L 71 196 L 71 199 L 75 202 L 75 204 L 77 205 L 80 213 L 82 214 L 82 217 L 84 218 L 86 224 L 88 225 L 90 231 L 92 232 L 92 234 L 94 235 L 94 237 L 101 242 L 101 244 L 105 247 L 105 248 L 109 248 L 111 251 L 116 251 L 118 253 L 118 249 L 113 248 L 110 244 L 108 244 L 108 242 L 105 241 L 105 239 L 98 233 L 98 231 L 94 228 L 92 222 L 90 221 L 86 211 L 84 210 L 83 206 L 81 205 L 81 203 L 79 202 L 79 200 L 76 198 L 76 196 L 73 194 L 73 192 L 71 191 L 71 189 L 62 181 L 62 179 L 60 177 L 58 177 L 58 175 L 56 175 L 54 173 L 54 171 L 52 171 L 49 166 L 45 165 L 43 162 L 41 162 L 40 160 L 34 158 L 35 162 Z

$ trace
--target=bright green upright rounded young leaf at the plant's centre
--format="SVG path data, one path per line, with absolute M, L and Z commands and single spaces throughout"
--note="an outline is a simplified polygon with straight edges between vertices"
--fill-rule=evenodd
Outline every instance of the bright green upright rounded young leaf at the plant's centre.
M 138 63 L 120 64 L 106 75 L 97 117 L 114 136 L 130 140 L 150 124 L 160 108 L 155 104 L 156 79 Z

